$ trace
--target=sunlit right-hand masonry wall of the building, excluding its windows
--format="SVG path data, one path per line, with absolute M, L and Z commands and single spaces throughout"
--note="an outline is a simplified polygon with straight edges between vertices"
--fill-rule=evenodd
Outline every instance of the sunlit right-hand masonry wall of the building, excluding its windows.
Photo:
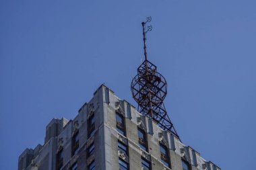
M 207 169 L 218 170 L 218 166 L 212 162 L 207 162 L 200 154 L 190 146 L 185 146 L 178 138 L 162 130 L 152 120 L 146 116 L 141 116 L 139 112 L 125 100 L 119 99 L 113 91 L 107 87 L 103 87 L 104 96 L 104 126 L 105 126 L 105 142 L 106 142 L 106 169 L 119 169 L 119 155 L 117 141 L 122 141 L 129 146 L 129 155 L 125 155 L 123 159 L 129 163 L 130 169 L 141 169 L 141 157 L 152 162 L 152 170 L 173 169 L 181 170 L 182 160 L 189 162 L 191 170 Z M 118 112 L 125 117 L 126 136 L 119 134 L 116 130 L 115 114 Z M 138 145 L 137 128 L 142 128 L 147 132 L 148 152 L 143 151 Z M 160 159 L 159 142 L 164 142 L 168 146 L 171 167 L 165 167 Z

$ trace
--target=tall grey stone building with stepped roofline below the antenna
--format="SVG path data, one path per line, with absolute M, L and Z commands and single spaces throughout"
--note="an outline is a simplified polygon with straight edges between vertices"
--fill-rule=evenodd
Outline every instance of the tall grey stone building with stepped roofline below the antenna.
M 73 120 L 53 119 L 18 170 L 220 170 L 101 85 Z

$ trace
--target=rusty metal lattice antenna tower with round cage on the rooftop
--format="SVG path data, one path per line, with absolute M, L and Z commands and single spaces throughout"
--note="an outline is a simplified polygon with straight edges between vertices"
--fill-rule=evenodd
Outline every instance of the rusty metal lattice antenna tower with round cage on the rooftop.
M 152 26 L 147 26 L 152 17 L 147 17 L 146 22 L 142 22 L 143 43 L 145 60 L 137 68 L 137 75 L 131 81 L 131 94 L 138 103 L 138 112 L 148 116 L 160 128 L 167 130 L 177 136 L 172 122 L 164 107 L 164 98 L 167 95 L 167 83 L 164 77 L 158 73 L 157 67 L 148 60 L 146 34 L 152 30 Z

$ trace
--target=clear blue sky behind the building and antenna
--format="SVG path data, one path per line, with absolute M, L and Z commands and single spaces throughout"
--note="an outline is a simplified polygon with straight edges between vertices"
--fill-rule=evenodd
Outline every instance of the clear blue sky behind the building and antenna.
M 0 160 L 18 167 L 52 118 L 72 119 L 102 83 L 133 105 L 148 58 L 183 142 L 222 169 L 255 169 L 256 1 L 0 1 Z

